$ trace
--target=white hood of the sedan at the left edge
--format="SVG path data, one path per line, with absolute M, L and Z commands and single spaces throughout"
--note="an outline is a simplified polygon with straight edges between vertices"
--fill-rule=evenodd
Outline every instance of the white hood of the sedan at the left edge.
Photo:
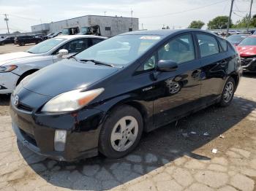
M 35 56 L 29 52 L 12 52 L 0 55 L 0 66 L 4 65 L 5 63 L 10 63 L 12 61 L 17 61 L 20 58 L 27 58 Z

